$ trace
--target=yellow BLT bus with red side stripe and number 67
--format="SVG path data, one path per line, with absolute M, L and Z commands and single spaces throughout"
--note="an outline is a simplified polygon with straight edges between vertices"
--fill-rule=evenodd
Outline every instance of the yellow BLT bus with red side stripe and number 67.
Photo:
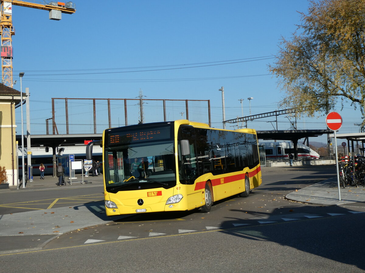
M 248 197 L 262 182 L 256 131 L 222 130 L 176 120 L 103 132 L 108 216 L 200 208 L 233 195 Z

